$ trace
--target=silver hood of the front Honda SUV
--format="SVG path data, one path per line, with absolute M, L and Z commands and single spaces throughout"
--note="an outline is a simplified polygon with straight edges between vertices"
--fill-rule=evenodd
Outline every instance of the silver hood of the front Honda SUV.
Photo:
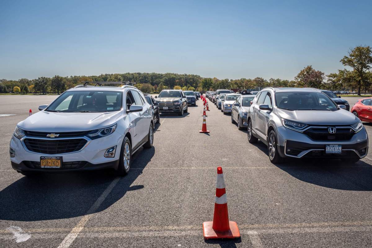
M 277 109 L 283 119 L 293 120 L 308 125 L 352 125 L 359 121 L 351 112 L 339 109 L 336 111 L 322 110 L 285 110 Z

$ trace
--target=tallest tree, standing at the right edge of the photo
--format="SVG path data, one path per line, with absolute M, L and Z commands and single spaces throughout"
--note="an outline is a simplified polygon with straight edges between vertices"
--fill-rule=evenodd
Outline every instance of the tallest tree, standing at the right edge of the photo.
M 360 88 L 367 80 L 367 72 L 371 69 L 372 64 L 372 49 L 369 46 L 357 46 L 350 49 L 349 56 L 344 56 L 340 62 L 344 66 L 353 68 L 357 76 L 358 95 L 360 96 Z

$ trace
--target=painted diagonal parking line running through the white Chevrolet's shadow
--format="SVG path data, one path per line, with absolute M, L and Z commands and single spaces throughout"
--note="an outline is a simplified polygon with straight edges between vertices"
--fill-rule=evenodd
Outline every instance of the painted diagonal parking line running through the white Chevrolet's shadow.
M 74 240 L 76 239 L 77 235 L 81 232 L 81 230 L 83 230 L 85 224 L 93 216 L 94 212 L 96 212 L 96 210 L 98 209 L 98 207 L 100 206 L 100 204 L 103 202 L 103 200 L 106 199 L 106 197 L 111 192 L 111 190 L 113 189 L 113 187 L 115 187 L 115 185 L 118 183 L 118 181 L 120 180 L 120 178 L 121 177 L 116 177 L 110 183 L 110 185 L 106 188 L 106 190 L 103 191 L 103 193 L 101 194 L 101 196 L 98 197 L 98 199 L 96 200 L 96 202 L 94 202 L 94 204 L 92 205 L 92 207 L 90 207 L 90 209 L 87 211 L 86 215 L 83 218 L 81 218 L 81 220 L 79 221 L 79 223 L 77 223 L 77 225 L 71 230 L 71 232 L 68 233 L 68 235 L 64 238 L 64 240 L 61 242 L 61 244 L 58 245 L 58 248 L 67 248 L 67 247 L 70 247 L 70 245 L 72 244 L 72 242 L 74 242 Z

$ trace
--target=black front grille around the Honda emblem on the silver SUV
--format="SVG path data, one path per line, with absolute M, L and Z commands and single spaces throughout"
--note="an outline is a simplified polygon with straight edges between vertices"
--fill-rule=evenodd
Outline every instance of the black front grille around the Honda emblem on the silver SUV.
M 329 133 L 328 128 L 310 128 L 304 132 L 311 139 L 321 141 L 350 140 L 354 131 L 351 128 L 336 128 L 336 133 Z

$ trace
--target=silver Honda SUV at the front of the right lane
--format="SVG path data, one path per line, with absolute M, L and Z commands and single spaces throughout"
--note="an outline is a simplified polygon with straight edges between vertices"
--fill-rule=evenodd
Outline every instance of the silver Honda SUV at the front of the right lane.
M 342 158 L 367 155 L 362 122 L 314 88 L 264 88 L 248 112 L 248 141 L 267 145 L 270 161 L 285 157 Z

